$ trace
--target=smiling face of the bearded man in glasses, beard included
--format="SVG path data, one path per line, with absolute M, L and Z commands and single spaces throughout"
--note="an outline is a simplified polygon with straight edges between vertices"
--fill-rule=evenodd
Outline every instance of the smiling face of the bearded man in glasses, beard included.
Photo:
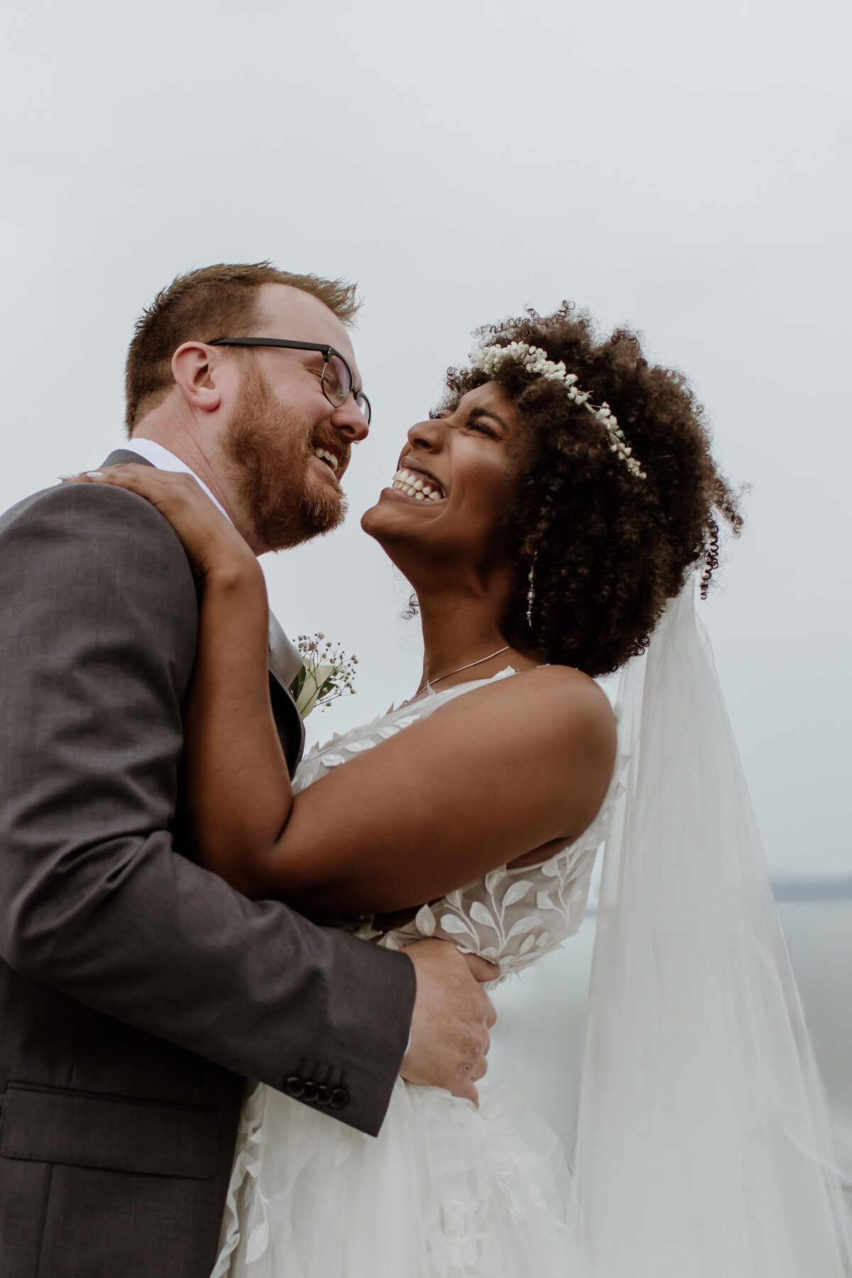
M 360 389 L 349 335 L 322 302 L 281 284 L 267 284 L 259 294 L 252 336 L 332 345 Z M 250 348 L 241 366 L 224 449 L 257 543 L 284 550 L 342 521 L 340 481 L 367 422 L 351 395 L 340 406 L 326 399 L 318 351 Z

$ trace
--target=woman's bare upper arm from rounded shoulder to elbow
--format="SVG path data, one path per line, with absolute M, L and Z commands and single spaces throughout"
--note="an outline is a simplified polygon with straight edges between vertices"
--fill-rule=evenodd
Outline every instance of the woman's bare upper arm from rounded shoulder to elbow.
M 600 809 L 614 754 L 609 703 L 585 675 L 551 666 L 498 680 L 296 795 L 248 892 L 308 914 L 436 900 L 577 838 Z

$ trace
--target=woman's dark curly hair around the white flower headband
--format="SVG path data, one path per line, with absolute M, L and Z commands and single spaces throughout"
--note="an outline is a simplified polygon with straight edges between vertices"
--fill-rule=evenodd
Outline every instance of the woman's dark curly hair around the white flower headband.
M 446 404 L 487 381 L 512 397 L 524 426 L 507 511 L 515 589 L 507 638 L 548 661 L 605 675 L 643 652 L 667 602 L 718 565 L 719 523 L 742 527 L 738 493 L 710 452 L 704 412 L 686 382 L 649 364 L 627 328 L 599 337 L 591 316 L 563 303 L 478 330 L 487 345 L 528 343 L 577 374 L 593 404 L 609 404 L 646 474 L 632 475 L 605 431 L 565 390 L 516 362 L 496 373 L 451 368 Z M 534 567 L 535 599 L 526 594 Z

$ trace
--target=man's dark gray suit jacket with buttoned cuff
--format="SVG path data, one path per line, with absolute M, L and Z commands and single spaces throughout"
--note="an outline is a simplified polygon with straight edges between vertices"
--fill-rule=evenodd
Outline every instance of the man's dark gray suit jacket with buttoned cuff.
M 245 1077 L 376 1134 L 405 1051 L 405 957 L 175 841 L 195 630 L 183 547 L 135 495 L 0 518 L 3 1278 L 206 1278 Z

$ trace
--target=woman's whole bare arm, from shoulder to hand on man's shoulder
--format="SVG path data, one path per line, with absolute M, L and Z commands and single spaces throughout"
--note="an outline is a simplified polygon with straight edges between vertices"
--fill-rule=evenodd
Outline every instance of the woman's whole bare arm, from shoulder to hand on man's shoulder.
M 594 819 L 614 721 L 593 680 L 565 667 L 456 698 L 294 800 L 254 557 L 192 479 L 146 466 L 107 478 L 162 510 L 206 581 L 186 789 L 199 860 L 232 887 L 307 912 L 397 910 L 568 842 Z

